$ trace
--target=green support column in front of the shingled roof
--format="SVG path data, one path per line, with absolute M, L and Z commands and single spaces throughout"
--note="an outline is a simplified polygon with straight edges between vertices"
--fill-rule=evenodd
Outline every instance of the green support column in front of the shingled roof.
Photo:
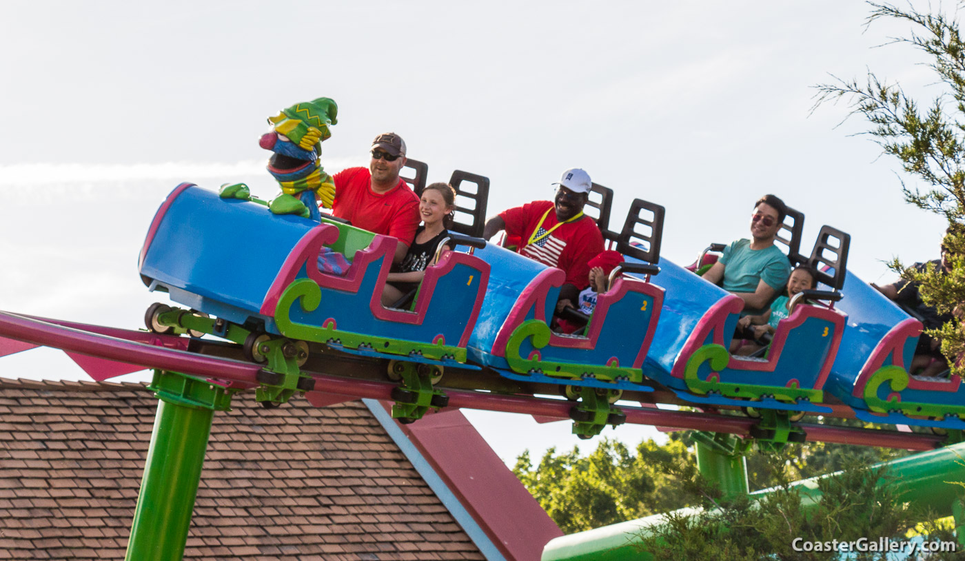
M 144 479 L 127 543 L 126 561 L 179 561 L 191 525 L 216 410 L 231 391 L 204 379 L 154 371 L 148 386 L 160 399 Z

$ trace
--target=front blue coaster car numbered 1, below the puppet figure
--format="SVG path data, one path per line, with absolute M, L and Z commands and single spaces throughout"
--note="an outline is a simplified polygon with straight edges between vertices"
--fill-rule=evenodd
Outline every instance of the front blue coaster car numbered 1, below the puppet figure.
M 324 217 L 319 224 L 272 214 L 182 183 L 154 216 L 140 271 L 152 290 L 254 332 L 345 351 L 465 362 L 489 266 L 445 253 L 427 267 L 413 309 L 389 309 L 380 295 L 396 244 Z M 350 266 L 341 275 L 323 272 L 323 252 L 350 258 Z M 444 297 L 433 298 L 436 292 Z

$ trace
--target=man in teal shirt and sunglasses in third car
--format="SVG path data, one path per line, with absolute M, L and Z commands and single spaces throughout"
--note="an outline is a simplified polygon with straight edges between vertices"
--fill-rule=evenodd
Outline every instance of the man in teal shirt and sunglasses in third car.
M 787 256 L 774 245 L 787 213 L 784 201 L 764 195 L 754 205 L 751 239 L 738 239 L 724 256 L 703 273 L 703 278 L 744 300 L 743 315 L 760 314 L 780 294 L 790 275 Z

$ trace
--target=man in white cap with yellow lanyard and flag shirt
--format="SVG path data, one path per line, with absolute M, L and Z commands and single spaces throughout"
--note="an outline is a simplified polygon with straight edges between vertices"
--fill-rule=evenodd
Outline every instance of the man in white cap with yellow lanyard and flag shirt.
M 483 238 L 505 230 L 508 238 L 518 238 L 516 251 L 546 266 L 560 267 L 566 273 L 560 289 L 559 305 L 575 302 L 580 291 L 589 286 L 588 263 L 603 251 L 603 235 L 596 221 L 583 213 L 593 182 L 579 168 L 563 172 L 553 201 L 535 201 L 505 210 L 485 223 Z

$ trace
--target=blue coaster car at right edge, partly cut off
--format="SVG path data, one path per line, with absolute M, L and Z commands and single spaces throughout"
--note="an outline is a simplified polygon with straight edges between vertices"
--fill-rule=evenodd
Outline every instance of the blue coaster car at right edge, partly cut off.
M 848 324 L 828 389 L 873 423 L 965 429 L 961 379 L 923 378 L 908 368 L 922 323 L 847 273 Z

